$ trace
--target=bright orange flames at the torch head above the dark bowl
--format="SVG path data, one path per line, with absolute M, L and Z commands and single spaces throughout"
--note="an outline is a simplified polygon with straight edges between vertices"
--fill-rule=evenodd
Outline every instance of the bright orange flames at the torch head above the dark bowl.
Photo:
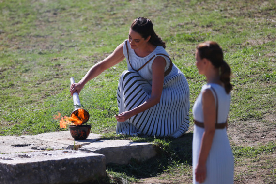
M 54 119 L 60 119 L 61 113 L 54 115 Z M 83 122 L 88 120 L 89 116 L 84 111 L 84 109 L 79 108 L 71 114 L 71 117 L 63 116 L 60 121 L 61 128 L 67 128 L 67 125 L 81 125 Z

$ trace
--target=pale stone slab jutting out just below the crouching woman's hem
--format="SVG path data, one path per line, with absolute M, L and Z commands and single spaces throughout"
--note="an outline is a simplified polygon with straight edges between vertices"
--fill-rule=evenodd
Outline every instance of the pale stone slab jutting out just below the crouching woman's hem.
M 131 159 L 145 161 L 157 154 L 150 143 L 130 140 L 100 140 L 84 145 L 78 150 L 103 154 L 106 156 L 107 164 L 128 164 Z

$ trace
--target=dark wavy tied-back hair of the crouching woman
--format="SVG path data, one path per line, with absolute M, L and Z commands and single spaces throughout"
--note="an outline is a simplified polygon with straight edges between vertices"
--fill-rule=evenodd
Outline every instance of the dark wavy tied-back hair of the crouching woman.
M 131 24 L 131 29 L 138 32 L 144 39 L 151 36 L 149 42 L 153 46 L 163 46 L 166 48 L 166 43 L 154 32 L 153 23 L 150 19 L 144 17 L 136 18 Z

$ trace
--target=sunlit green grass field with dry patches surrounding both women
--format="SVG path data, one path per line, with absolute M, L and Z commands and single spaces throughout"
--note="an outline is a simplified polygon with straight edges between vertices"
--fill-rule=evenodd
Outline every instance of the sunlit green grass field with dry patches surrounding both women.
M 107 57 L 138 16 L 150 18 L 166 41 L 188 80 L 191 107 L 205 83 L 194 64 L 196 45 L 222 46 L 233 73 L 228 134 L 235 183 L 276 183 L 275 0 L 0 0 L 0 135 L 64 131 L 53 115 L 74 109 L 70 77 L 79 81 Z M 125 68 L 123 61 L 84 87 L 87 124 L 104 138 L 152 142 L 162 154 L 108 166 L 107 183 L 192 183 L 193 123 L 175 140 L 115 134 L 116 89 Z

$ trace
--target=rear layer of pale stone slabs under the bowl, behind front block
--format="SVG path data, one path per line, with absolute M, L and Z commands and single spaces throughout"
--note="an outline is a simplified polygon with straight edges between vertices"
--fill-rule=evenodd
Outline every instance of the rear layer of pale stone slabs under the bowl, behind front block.
M 99 140 L 100 134 L 90 133 L 86 140 L 74 140 L 68 131 L 44 133 L 34 136 L 1 136 L 0 153 L 24 153 L 41 150 L 75 149 L 106 156 L 106 163 L 128 164 L 131 159 L 144 161 L 156 155 L 149 143 L 130 140 Z

